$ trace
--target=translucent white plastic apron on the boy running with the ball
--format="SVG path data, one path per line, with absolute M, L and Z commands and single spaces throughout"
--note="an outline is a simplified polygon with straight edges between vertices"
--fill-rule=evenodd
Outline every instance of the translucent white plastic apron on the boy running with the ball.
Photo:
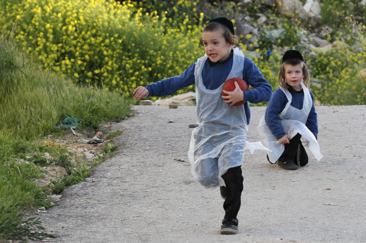
M 195 180 L 205 187 L 225 185 L 221 175 L 231 167 L 240 166 L 244 159 L 248 126 L 244 106 L 230 106 L 221 98 L 219 88 L 206 89 L 202 69 L 207 55 L 195 64 L 197 124 L 192 131 L 188 158 Z M 243 76 L 244 54 L 234 48 L 232 69 L 226 78 Z

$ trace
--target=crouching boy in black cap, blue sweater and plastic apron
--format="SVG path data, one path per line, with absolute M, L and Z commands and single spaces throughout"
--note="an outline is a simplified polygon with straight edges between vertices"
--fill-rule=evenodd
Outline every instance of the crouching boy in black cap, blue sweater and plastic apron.
M 302 54 L 286 51 L 278 75 L 279 88 L 273 92 L 258 131 L 270 163 L 285 170 L 305 166 L 309 158 L 301 140 L 306 141 L 311 153 L 322 158 L 318 138 L 318 120 L 314 96 L 309 90 L 310 77 Z

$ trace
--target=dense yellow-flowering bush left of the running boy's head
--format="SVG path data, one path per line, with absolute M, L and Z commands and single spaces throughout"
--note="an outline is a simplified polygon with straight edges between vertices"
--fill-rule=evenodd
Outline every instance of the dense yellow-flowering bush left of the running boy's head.
M 46 70 L 127 96 L 203 55 L 202 27 L 188 26 L 187 16 L 170 27 L 164 13 L 143 13 L 131 1 L 4 1 L 0 13 L 5 31 L 15 22 L 16 42 Z

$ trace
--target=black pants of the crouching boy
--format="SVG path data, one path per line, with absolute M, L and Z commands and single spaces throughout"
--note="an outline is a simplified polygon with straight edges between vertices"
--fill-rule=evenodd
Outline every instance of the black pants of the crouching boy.
M 298 149 L 300 146 L 300 161 L 298 163 Z M 300 166 L 305 166 L 309 162 L 304 146 L 301 142 L 301 135 L 296 134 L 290 139 L 290 143 L 285 144 L 285 150 L 279 158 L 280 161 L 292 160 Z

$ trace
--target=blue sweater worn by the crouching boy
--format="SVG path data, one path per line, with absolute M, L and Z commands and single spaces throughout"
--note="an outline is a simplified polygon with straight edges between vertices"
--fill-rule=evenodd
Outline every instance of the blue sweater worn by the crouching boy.
M 287 87 L 287 89 L 292 95 L 291 106 L 295 107 L 296 109 L 302 109 L 304 101 L 303 90 L 301 89 L 300 91 L 296 91 L 292 87 Z M 313 105 L 311 106 L 305 126 L 309 128 L 309 130 L 314 134 L 315 138 L 318 139 L 318 118 L 317 113 L 315 112 L 314 96 L 311 91 L 310 96 L 311 100 L 313 100 Z M 280 125 L 278 117 L 285 108 L 287 102 L 288 100 L 285 93 L 280 88 L 278 88 L 275 90 L 275 92 L 273 92 L 272 98 L 268 101 L 268 105 L 266 108 L 266 124 L 269 127 L 269 130 L 272 132 L 273 136 L 275 136 L 277 139 L 280 139 L 284 135 L 286 135 L 285 131 Z

